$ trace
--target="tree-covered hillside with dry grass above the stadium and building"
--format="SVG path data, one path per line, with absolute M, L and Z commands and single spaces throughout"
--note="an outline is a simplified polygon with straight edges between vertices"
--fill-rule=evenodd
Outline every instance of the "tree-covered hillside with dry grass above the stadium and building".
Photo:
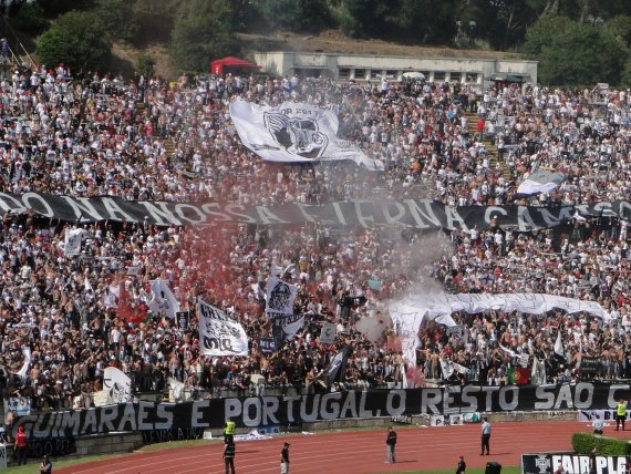
M 14 0 L 39 62 L 173 76 L 255 50 L 524 54 L 542 83 L 631 85 L 631 2 L 611 0 Z M 428 12 L 431 14 L 428 14 Z M 472 52 L 473 51 L 473 52 Z

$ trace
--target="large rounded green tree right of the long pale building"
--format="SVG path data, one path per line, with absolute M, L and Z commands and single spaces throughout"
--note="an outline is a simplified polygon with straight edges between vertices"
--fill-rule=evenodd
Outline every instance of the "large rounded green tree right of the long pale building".
M 575 23 L 544 45 L 539 78 L 545 84 L 619 84 L 629 51 L 606 29 Z

